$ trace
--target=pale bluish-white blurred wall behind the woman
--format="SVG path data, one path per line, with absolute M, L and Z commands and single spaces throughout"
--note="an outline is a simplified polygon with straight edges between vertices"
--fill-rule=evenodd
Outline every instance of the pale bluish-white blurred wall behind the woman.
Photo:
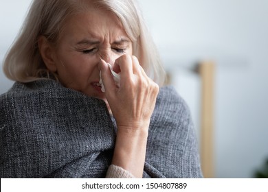
M 212 60 L 215 178 L 252 178 L 268 157 L 268 1 L 139 0 L 172 84 L 186 99 L 199 135 L 200 77 Z M 30 0 L 0 1 L 0 60 Z M 0 71 L 0 94 L 12 86 Z

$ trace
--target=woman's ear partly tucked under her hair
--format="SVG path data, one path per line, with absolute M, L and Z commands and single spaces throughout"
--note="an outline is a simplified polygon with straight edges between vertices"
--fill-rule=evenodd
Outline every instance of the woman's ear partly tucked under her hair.
M 45 36 L 40 36 L 38 38 L 38 48 L 47 69 L 51 72 L 56 72 L 57 67 L 54 58 L 54 49 L 52 49 L 52 45 L 47 41 Z

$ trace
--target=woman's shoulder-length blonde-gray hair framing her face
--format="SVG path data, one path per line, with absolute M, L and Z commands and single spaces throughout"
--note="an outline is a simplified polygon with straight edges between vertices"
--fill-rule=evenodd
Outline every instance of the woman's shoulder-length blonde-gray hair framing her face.
M 3 62 L 5 75 L 14 81 L 32 82 L 49 77 L 49 71 L 38 50 L 38 38 L 45 36 L 56 43 L 65 21 L 72 14 L 85 11 L 84 1 L 118 16 L 126 34 L 133 42 L 133 55 L 159 86 L 166 73 L 159 53 L 135 0 L 34 0 L 21 28 Z

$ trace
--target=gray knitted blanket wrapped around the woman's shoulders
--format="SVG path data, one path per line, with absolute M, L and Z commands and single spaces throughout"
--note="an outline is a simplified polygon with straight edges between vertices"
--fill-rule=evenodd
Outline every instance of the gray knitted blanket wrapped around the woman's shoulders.
M 54 80 L 16 82 L 0 96 L 0 177 L 104 178 L 115 136 L 104 101 Z M 144 178 L 200 177 L 189 110 L 174 88 L 161 88 Z

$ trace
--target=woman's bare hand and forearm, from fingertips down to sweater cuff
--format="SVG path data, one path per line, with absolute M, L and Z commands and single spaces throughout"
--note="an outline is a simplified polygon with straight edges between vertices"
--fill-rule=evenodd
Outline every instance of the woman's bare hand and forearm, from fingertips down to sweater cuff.
M 118 125 L 113 164 L 142 177 L 150 117 L 159 86 L 150 80 L 135 56 L 123 55 L 113 65 L 120 73 L 116 86 L 109 66 L 100 62 L 105 95 Z

